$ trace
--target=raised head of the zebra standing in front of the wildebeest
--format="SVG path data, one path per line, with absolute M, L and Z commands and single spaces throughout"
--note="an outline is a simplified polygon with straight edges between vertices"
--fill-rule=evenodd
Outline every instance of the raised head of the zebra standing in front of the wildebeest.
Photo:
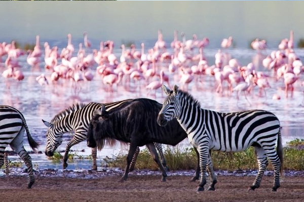
M 165 85 L 162 86 L 162 89 L 168 96 L 164 99 L 163 108 L 158 115 L 157 123 L 160 126 L 165 126 L 169 121 L 179 116 L 180 100 L 177 85 L 174 85 L 173 90 L 170 90 Z

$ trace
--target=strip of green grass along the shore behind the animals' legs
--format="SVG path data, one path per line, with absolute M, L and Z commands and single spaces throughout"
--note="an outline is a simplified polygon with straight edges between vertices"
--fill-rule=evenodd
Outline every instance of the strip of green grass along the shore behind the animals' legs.
M 294 140 L 289 144 L 295 144 L 304 140 Z M 177 147 L 167 147 L 164 150 L 167 166 L 170 170 L 190 170 L 195 169 L 197 157 L 193 148 L 184 149 Z M 253 147 L 237 153 L 223 153 L 212 151 L 212 162 L 214 170 L 252 170 L 258 169 L 255 151 Z M 126 166 L 126 155 L 118 155 L 114 160 L 107 162 L 108 167 L 118 167 L 124 169 Z M 135 169 L 158 170 L 157 164 L 151 158 L 149 151 L 143 149 L 138 155 Z M 273 170 L 271 163 L 268 169 Z M 284 170 L 304 170 L 304 150 L 295 147 L 284 147 Z

